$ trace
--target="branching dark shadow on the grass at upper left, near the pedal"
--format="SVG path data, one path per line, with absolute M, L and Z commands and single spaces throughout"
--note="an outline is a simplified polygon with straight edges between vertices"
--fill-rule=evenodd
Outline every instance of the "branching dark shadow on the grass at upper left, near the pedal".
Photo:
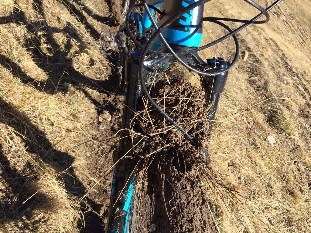
M 91 34 L 94 40 L 99 38 L 99 33 L 94 29 L 94 27 L 87 21 L 83 16 L 82 12 L 77 9 L 72 3 L 67 0 L 62 0 L 61 3 L 68 10 L 68 13 L 75 16 L 77 21 L 85 25 L 86 30 Z M 90 77 L 83 75 L 81 72 L 75 70 L 73 66 L 73 59 L 70 56 L 70 51 L 73 48 L 73 43 L 79 44 L 79 51 L 76 51 L 75 56 L 78 56 L 81 53 L 87 53 L 87 44 L 80 36 L 77 31 L 77 28 L 71 25 L 69 22 L 65 25 L 63 29 L 51 27 L 46 21 L 45 12 L 42 7 L 42 1 L 33 0 L 32 2 L 33 9 L 38 15 L 38 20 L 34 22 L 27 21 L 27 17 L 22 11 L 21 7 L 18 5 L 18 2 L 14 2 L 14 9 L 9 16 L 0 17 L 0 24 L 7 23 L 16 23 L 17 25 L 25 25 L 27 34 L 32 35 L 31 39 L 22 41 L 21 45 L 26 49 L 36 65 L 48 75 L 48 80 L 45 82 L 40 82 L 31 78 L 29 75 L 26 75 L 22 71 L 21 67 L 12 61 L 9 57 L 6 57 L 5 54 L 0 54 L 0 64 L 4 67 L 10 69 L 12 74 L 16 77 L 19 77 L 22 82 L 25 84 L 32 85 L 35 89 L 39 91 L 44 91 L 47 94 L 55 94 L 58 92 L 66 93 L 68 91 L 68 85 L 71 84 L 86 95 L 86 97 L 96 106 L 99 106 L 99 102 L 87 94 L 86 87 L 94 89 L 99 93 L 116 93 L 120 94 L 118 90 L 118 75 L 112 75 L 108 80 L 100 81 L 95 80 Z M 92 15 L 91 11 L 82 6 L 87 14 Z M 105 20 L 105 17 L 99 17 L 98 15 L 93 15 L 97 20 Z M 107 20 L 105 20 L 107 22 Z M 104 22 L 102 22 L 104 23 Z M 110 25 L 112 25 L 110 23 Z M 53 35 L 56 33 L 62 33 L 66 36 L 66 43 L 63 45 L 63 48 L 60 48 L 59 44 L 56 43 Z M 49 46 L 45 47 L 43 50 L 42 40 L 45 44 Z M 109 63 L 117 64 L 118 58 L 115 54 L 107 56 L 106 59 Z M 92 61 L 91 58 L 91 66 Z M 112 71 L 116 73 L 116 71 Z

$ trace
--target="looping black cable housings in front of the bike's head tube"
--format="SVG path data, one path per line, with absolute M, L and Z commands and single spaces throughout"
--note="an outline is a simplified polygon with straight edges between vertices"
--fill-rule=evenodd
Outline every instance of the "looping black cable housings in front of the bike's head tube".
M 140 61 L 139 61 L 139 66 L 138 66 L 138 75 L 139 75 L 139 80 L 140 80 L 140 85 L 141 85 L 141 88 L 142 88 L 142 91 L 144 92 L 145 96 L 148 98 L 148 100 L 150 101 L 150 103 L 173 125 L 175 126 L 178 130 L 180 130 L 193 144 L 197 145 L 196 142 L 193 140 L 193 138 L 181 127 L 179 126 L 171 117 L 169 117 L 169 115 L 167 115 L 157 104 L 156 102 L 152 99 L 152 97 L 150 96 L 147 88 L 146 88 L 146 85 L 145 85 L 145 82 L 144 82 L 144 77 L 143 77 L 143 62 L 144 62 L 144 59 L 145 59 L 145 56 L 147 53 L 151 53 L 151 54 L 155 54 L 155 55 L 160 55 L 160 56 L 173 56 L 177 61 L 179 61 L 183 66 L 185 66 L 188 70 L 190 71 L 193 71 L 195 73 L 198 73 L 200 75 L 205 75 L 205 76 L 215 76 L 215 75 L 220 75 L 226 71 L 228 71 L 230 68 L 232 68 L 232 66 L 234 65 L 234 63 L 237 61 L 238 59 L 238 55 L 239 55 L 239 44 L 238 44 L 238 41 L 237 41 L 237 38 L 235 36 L 235 33 L 239 32 L 240 30 L 244 29 L 245 27 L 247 27 L 248 25 L 252 24 L 252 23 L 257 23 L 257 24 L 260 24 L 260 23 L 266 23 L 269 21 L 270 19 L 270 16 L 269 14 L 267 13 L 267 11 L 270 11 L 273 7 L 276 6 L 276 4 L 278 4 L 279 2 L 281 2 L 281 0 L 277 0 L 276 2 L 274 2 L 270 7 L 268 7 L 266 10 L 263 9 L 261 6 L 259 6 L 257 3 L 253 2 L 252 0 L 244 0 L 245 2 L 248 2 L 249 4 L 251 4 L 253 7 L 255 7 L 256 9 L 258 9 L 259 11 L 261 11 L 260 14 L 258 14 L 257 16 L 255 16 L 253 19 L 249 20 L 249 21 L 246 21 L 246 20 L 238 20 L 238 19 L 226 19 L 226 18 L 215 18 L 215 17 L 205 17 L 203 18 L 204 21 L 210 21 L 210 22 L 213 22 L 213 23 L 216 23 L 218 25 L 221 25 L 222 27 L 224 27 L 226 30 L 229 31 L 228 34 L 226 34 L 225 36 L 211 42 L 211 43 L 208 43 L 204 46 L 201 46 L 201 47 L 198 47 L 198 48 L 195 48 L 195 49 L 191 49 L 189 51 L 186 51 L 186 52 L 181 52 L 181 53 L 175 53 L 173 51 L 173 49 L 169 46 L 169 43 L 164 39 L 163 35 L 161 34 L 161 31 L 167 26 L 169 25 L 170 23 L 174 22 L 176 19 L 178 19 L 180 16 L 182 16 L 184 13 L 190 11 L 191 9 L 193 9 L 194 7 L 197 7 L 201 4 L 204 4 L 205 2 L 208 2 L 210 0 L 199 0 L 197 2 L 194 2 L 193 4 L 189 5 L 188 7 L 185 7 L 183 8 L 181 11 L 178 11 L 176 12 L 172 17 L 170 17 L 167 21 L 165 21 L 160 27 L 157 26 L 152 14 L 151 14 L 151 11 L 149 9 L 149 6 L 147 3 L 146 3 L 146 0 L 143 0 L 143 3 L 140 3 L 140 4 L 137 4 L 133 7 L 131 7 L 131 9 L 128 11 L 128 14 L 127 14 L 127 19 L 126 19 L 126 27 L 127 27 L 127 31 L 128 31 L 128 34 L 130 36 L 130 38 L 133 40 L 133 42 L 140 48 L 142 48 L 142 54 L 141 54 L 141 58 L 140 58 Z M 129 16 L 131 14 L 131 12 L 137 8 L 137 7 L 141 7 L 141 6 L 144 6 L 145 10 L 146 10 L 146 13 L 148 14 L 150 20 L 151 20 L 151 23 L 153 25 L 153 27 L 156 29 L 154 31 L 154 33 L 152 34 L 151 38 L 148 40 L 148 42 L 146 43 L 145 46 L 143 46 L 142 44 L 140 44 L 135 38 L 134 36 L 131 34 L 130 32 L 130 28 L 129 28 L 129 23 L 128 23 L 128 19 L 129 19 Z M 151 7 L 152 8 L 152 7 Z M 153 8 L 152 8 L 153 9 Z M 266 16 L 266 20 L 265 21 L 258 21 L 258 19 L 260 17 L 262 17 L 263 15 Z M 238 27 L 237 29 L 235 30 L 231 30 L 227 25 L 225 25 L 224 23 L 221 23 L 219 22 L 218 20 L 223 20 L 223 21 L 234 21 L 234 22 L 242 22 L 244 23 L 244 25 Z M 162 40 L 163 44 L 166 46 L 166 48 L 169 50 L 169 53 L 159 53 L 157 51 L 153 51 L 151 49 L 149 49 L 149 47 L 151 46 L 151 43 L 156 39 L 156 37 L 159 36 L 160 39 Z M 229 37 L 233 37 L 234 39 L 234 43 L 235 43 L 235 46 L 236 46 L 236 54 L 235 54 L 235 57 L 233 59 L 233 61 L 230 63 L 230 65 L 220 71 L 220 72 L 203 72 L 203 71 L 200 71 L 200 70 L 196 70 L 194 69 L 192 66 L 189 66 L 188 64 L 186 64 L 185 62 L 183 62 L 183 60 L 179 57 L 181 55 L 186 55 L 186 54 L 190 54 L 190 53 L 194 53 L 194 52 L 198 52 L 202 49 L 205 49 L 205 48 L 209 48 L 211 47 L 212 45 L 215 45 L 216 43 L 219 43 Z

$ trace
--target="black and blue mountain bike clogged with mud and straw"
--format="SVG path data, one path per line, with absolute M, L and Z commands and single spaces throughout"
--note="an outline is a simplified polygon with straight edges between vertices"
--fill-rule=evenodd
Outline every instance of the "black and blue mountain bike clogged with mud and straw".
M 239 43 L 235 34 L 250 24 L 268 22 L 270 19 L 268 11 L 281 2 L 277 0 L 264 9 L 252 0 L 244 0 L 260 13 L 253 19 L 240 20 L 203 17 L 204 3 L 209 1 L 149 0 L 146 2 L 142 0 L 141 3 L 137 3 L 138 1 L 135 0 L 124 0 L 122 10 L 124 23 L 120 25 L 118 33 L 114 35 L 103 31 L 101 34 L 99 40 L 101 53 L 109 55 L 115 46 L 120 48 L 119 85 L 124 93 L 119 144 L 118 149 L 113 153 L 113 180 L 106 232 L 171 231 L 160 229 L 161 225 L 158 224 L 156 215 L 156 185 L 154 185 L 156 182 L 152 181 L 151 176 L 146 175 L 150 171 L 148 166 L 154 160 L 150 155 L 156 153 L 154 141 L 162 142 L 166 148 L 173 148 L 174 146 L 168 140 L 168 132 L 174 130 L 173 134 L 176 134 L 180 141 L 189 142 L 187 147 L 191 148 L 190 150 L 196 151 L 197 154 L 201 153 L 207 164 L 210 162 L 208 148 L 206 144 L 201 143 L 208 134 L 202 132 L 209 133 L 212 130 L 228 71 L 238 59 Z M 259 20 L 262 16 L 265 19 Z M 228 33 L 202 46 L 200 43 L 204 32 L 203 21 L 215 23 Z M 220 21 L 239 22 L 242 25 L 231 30 Z M 204 60 L 198 55 L 199 51 L 229 37 L 232 37 L 235 43 L 235 55 L 231 62 L 221 57 Z M 180 97 L 176 98 L 177 101 L 173 101 L 179 107 L 167 106 L 167 104 L 165 106 L 165 103 L 172 104 L 169 102 L 171 93 L 165 93 L 165 90 L 159 91 L 163 88 L 163 85 L 160 85 L 163 84 L 163 79 L 167 80 L 166 87 L 173 85 L 167 79 L 166 73 L 175 62 L 197 75 L 199 89 L 203 91 L 205 105 L 202 107 L 204 111 L 200 110 L 199 118 L 202 120 L 200 122 L 204 121 L 204 123 L 200 126 L 202 130 L 197 130 L 201 136 L 193 133 L 191 127 L 187 128 L 187 124 L 190 123 L 180 123 L 172 117 L 177 116 L 173 114 L 174 111 L 179 114 L 183 111 L 191 112 L 189 108 L 193 105 L 189 103 L 195 101 L 195 98 L 192 98 L 191 86 L 187 86 L 190 91 L 182 90 L 185 93 L 182 96 L 180 89 L 186 84 L 179 80 Z M 157 88 L 157 85 L 160 85 L 160 88 Z M 158 92 L 164 93 L 164 98 L 161 100 L 152 97 L 152 94 Z M 165 102 L 165 98 L 168 102 Z M 182 107 L 181 103 L 186 103 L 186 106 Z M 176 110 L 177 108 L 179 110 Z M 191 124 L 197 127 L 199 123 L 196 121 L 198 117 L 196 114 L 191 115 L 193 117 Z M 152 119 L 150 115 L 153 115 Z M 160 124 L 159 119 L 162 119 Z M 144 125 L 146 121 L 147 126 Z M 167 154 L 177 157 L 179 163 L 179 157 L 176 156 L 179 153 L 178 149 L 170 149 Z M 154 183 L 151 184 L 152 182 Z M 162 191 L 164 193 L 164 190 Z M 169 218 L 169 213 L 166 212 Z M 202 232 L 204 231 L 206 229 L 202 229 Z

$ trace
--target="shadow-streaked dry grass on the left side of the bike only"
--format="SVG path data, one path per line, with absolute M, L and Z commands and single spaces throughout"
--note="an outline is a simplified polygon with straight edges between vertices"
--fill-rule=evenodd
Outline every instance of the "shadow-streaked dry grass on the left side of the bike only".
M 95 98 L 111 68 L 95 41 L 114 29 L 108 7 L 0 5 L 0 232 L 103 228 L 110 182 L 100 175 L 108 157 Z

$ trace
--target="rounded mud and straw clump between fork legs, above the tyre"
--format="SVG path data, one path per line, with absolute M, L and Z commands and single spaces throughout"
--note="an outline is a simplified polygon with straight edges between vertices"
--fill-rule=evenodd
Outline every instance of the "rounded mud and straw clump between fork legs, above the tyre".
M 198 143 L 207 148 L 209 143 L 207 107 L 205 94 L 184 78 L 174 78 L 168 83 L 161 80 L 151 87 L 150 95 L 156 103 Z M 146 102 L 145 102 L 146 103 Z M 151 104 L 142 104 L 138 117 L 141 128 L 150 136 L 157 135 L 160 141 L 180 150 L 194 151 L 195 146 L 183 133 L 171 125 Z M 169 147 L 168 147 L 169 148 Z

